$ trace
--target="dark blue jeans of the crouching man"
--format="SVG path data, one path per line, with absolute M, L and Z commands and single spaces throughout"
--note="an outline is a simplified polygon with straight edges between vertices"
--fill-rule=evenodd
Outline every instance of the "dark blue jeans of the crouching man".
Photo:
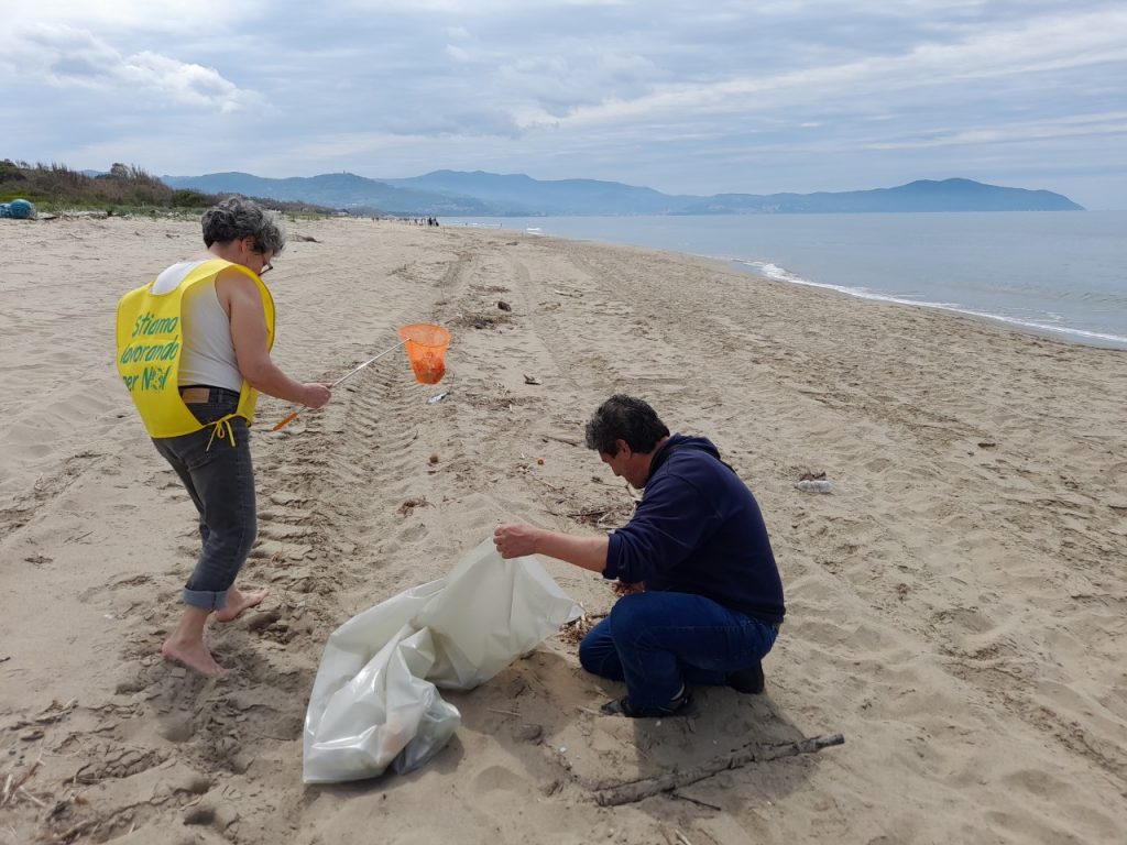
M 774 646 L 775 625 L 687 593 L 622 596 L 579 643 L 587 671 L 625 681 L 640 708 L 666 706 L 685 684 L 724 684 Z

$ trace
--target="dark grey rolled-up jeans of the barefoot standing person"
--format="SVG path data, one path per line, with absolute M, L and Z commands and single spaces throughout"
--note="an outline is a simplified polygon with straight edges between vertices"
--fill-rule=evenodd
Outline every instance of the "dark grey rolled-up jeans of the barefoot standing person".
M 212 388 L 207 402 L 189 404 L 188 410 L 207 424 L 232 413 L 238 404 L 234 391 Z M 213 439 L 211 426 L 180 437 L 153 438 L 157 451 L 176 470 L 199 513 L 203 548 L 183 597 L 185 604 L 208 611 L 227 606 L 227 592 L 258 534 L 250 432 L 242 417 L 230 422 L 233 446 L 229 438 Z

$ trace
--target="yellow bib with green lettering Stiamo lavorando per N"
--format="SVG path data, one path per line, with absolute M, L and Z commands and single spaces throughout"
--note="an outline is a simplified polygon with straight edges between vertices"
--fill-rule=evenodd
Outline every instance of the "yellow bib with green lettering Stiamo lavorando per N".
M 180 353 L 184 349 L 180 305 L 189 287 L 213 281 L 228 267 L 245 273 L 258 285 L 266 313 L 266 347 L 270 348 L 274 345 L 274 297 L 254 270 L 222 258 L 193 268 L 167 293 L 152 293 L 153 282 L 150 282 L 130 291 L 117 303 L 117 372 L 150 437 L 179 437 L 204 427 L 180 399 Z M 242 417 L 249 426 L 255 419 L 257 401 L 258 391 L 243 380 L 234 413 L 207 425 L 214 426 L 214 434 L 222 438 L 225 422 L 225 433 L 231 435 L 233 445 L 230 417 Z

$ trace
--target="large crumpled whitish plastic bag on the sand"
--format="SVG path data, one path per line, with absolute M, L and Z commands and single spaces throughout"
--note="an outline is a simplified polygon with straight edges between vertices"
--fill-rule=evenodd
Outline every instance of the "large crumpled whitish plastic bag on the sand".
M 504 560 L 492 540 L 445 578 L 353 616 L 325 646 L 305 711 L 305 783 L 410 772 L 461 724 L 436 687 L 472 690 L 577 619 L 534 558 Z

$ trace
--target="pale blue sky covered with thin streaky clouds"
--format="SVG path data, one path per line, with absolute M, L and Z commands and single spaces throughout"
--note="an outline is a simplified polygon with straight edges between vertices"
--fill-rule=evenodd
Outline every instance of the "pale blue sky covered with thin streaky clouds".
M 1127 210 L 1122 0 L 0 0 L 0 159 Z

